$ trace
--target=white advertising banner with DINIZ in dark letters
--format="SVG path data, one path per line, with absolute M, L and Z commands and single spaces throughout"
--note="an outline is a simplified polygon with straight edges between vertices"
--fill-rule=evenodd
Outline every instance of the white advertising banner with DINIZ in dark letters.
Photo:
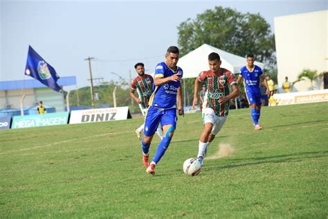
M 131 119 L 129 107 L 73 110 L 69 119 L 70 124 L 95 123 Z

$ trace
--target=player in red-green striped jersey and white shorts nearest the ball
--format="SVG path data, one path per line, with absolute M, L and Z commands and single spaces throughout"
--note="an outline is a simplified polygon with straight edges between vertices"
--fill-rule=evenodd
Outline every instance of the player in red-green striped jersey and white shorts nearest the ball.
M 207 89 L 206 106 L 203 108 L 204 129 L 199 138 L 199 150 L 197 159 L 203 164 L 207 147 L 215 138 L 226 122 L 229 111 L 229 100 L 239 95 L 239 89 L 235 76 L 227 69 L 221 68 L 221 58 L 217 53 L 208 55 L 208 65 L 210 70 L 199 73 L 194 81 L 194 100 L 192 108 L 197 104 L 197 94 L 201 82 L 204 82 Z M 229 87 L 232 91 L 230 93 Z

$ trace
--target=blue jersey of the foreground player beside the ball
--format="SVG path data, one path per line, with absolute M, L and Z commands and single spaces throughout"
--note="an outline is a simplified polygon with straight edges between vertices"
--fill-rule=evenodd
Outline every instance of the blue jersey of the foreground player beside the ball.
M 181 73 L 179 78 L 182 78 L 183 71 L 177 67 L 173 71 L 166 66 L 165 62 L 158 63 L 155 68 L 154 78 L 167 78 L 175 73 Z M 154 91 L 149 100 L 149 105 L 163 109 L 170 109 L 176 107 L 176 95 L 180 87 L 180 81 L 170 81 L 158 87 L 154 87 Z

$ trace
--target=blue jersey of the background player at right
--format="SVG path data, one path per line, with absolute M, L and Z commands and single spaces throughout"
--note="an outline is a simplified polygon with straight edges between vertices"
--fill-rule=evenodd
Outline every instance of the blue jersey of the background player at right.
M 259 89 L 259 76 L 262 76 L 262 74 L 262 69 L 257 65 L 254 65 L 253 71 L 250 71 L 246 66 L 240 69 L 240 75 L 244 78 L 246 92 L 261 93 Z

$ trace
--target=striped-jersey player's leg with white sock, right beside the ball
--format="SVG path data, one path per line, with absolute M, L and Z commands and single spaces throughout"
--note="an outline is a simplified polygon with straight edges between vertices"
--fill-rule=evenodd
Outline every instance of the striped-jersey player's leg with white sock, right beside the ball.
M 215 124 L 215 112 L 211 108 L 203 109 L 203 123 L 204 129 L 201 133 L 201 137 L 199 137 L 199 146 L 198 146 L 198 155 L 197 159 L 203 162 L 203 157 L 205 157 L 206 146 L 208 144 L 208 137 L 212 132 L 213 125 Z

